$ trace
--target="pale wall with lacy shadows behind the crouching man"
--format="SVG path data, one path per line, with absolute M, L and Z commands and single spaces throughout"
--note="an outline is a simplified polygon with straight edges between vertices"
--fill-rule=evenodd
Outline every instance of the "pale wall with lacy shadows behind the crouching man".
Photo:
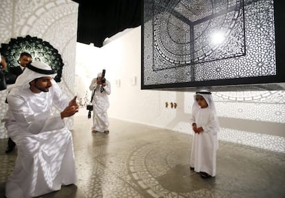
M 29 34 L 59 50 L 64 63 L 59 86 L 71 99 L 75 95 L 78 4 L 70 0 L 1 0 L 0 9 L 1 43 Z M 0 120 L 8 109 L 6 96 L 6 90 L 0 91 Z M 73 119 L 67 119 L 67 126 L 72 125 Z M 6 128 L 0 122 L 0 138 L 6 137 Z

